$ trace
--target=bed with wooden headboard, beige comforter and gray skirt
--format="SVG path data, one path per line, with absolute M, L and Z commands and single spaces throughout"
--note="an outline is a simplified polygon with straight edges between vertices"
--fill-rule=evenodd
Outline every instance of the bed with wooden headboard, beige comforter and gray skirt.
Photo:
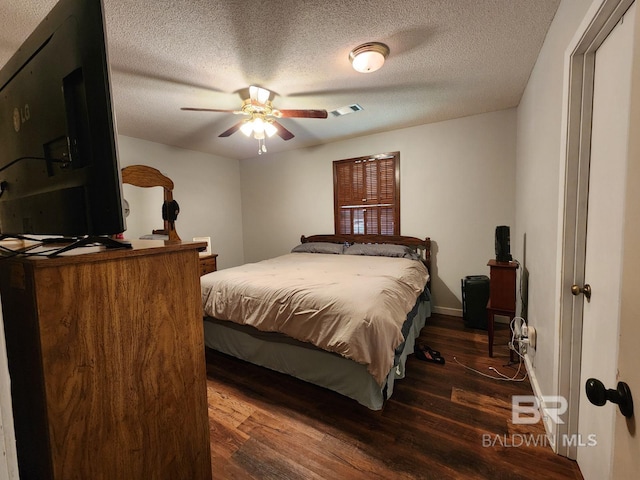
M 205 345 L 382 409 L 431 314 L 430 239 L 301 237 L 201 277 Z

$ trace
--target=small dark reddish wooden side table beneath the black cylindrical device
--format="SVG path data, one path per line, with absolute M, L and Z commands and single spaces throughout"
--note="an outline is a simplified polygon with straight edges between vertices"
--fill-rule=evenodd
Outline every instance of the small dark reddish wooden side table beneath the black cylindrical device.
M 494 315 L 516 316 L 516 270 L 517 262 L 489 260 L 489 303 L 487 303 L 487 330 L 489 333 L 489 356 L 493 357 Z

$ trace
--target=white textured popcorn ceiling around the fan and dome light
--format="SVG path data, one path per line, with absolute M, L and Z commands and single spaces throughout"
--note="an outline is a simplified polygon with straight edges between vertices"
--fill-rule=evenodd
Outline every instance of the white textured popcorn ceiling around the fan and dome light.
M 0 65 L 55 0 L 0 0 Z M 295 134 L 269 153 L 518 105 L 559 0 L 104 0 L 120 134 L 230 158 L 257 141 L 218 135 L 259 85 L 277 108 L 343 117 L 282 119 Z M 379 41 L 391 54 L 356 73 L 348 54 Z

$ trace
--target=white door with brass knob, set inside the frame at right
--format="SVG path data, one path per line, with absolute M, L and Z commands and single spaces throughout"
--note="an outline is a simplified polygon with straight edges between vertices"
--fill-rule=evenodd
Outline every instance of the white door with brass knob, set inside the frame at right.
M 591 298 L 584 295 L 577 453 L 587 480 L 612 478 L 614 426 L 620 415 L 610 402 L 592 405 L 584 386 L 588 378 L 606 388 L 618 382 L 634 20 L 635 4 L 595 54 L 584 272 Z

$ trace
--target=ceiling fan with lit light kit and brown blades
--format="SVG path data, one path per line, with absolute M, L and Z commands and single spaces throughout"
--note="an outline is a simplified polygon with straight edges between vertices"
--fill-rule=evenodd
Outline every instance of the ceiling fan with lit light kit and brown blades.
M 266 137 L 278 134 L 283 140 L 291 140 L 294 135 L 282 126 L 277 118 L 327 118 L 326 110 L 278 110 L 271 103 L 271 92 L 265 88 L 250 86 L 249 98 L 242 102 L 240 110 L 220 110 L 217 108 L 193 108 L 183 107 L 181 110 L 195 112 L 223 112 L 245 115 L 248 118 L 241 120 L 231 128 L 222 132 L 219 137 L 228 137 L 238 130 L 246 136 L 258 140 L 258 154 L 267 151 L 264 144 Z

